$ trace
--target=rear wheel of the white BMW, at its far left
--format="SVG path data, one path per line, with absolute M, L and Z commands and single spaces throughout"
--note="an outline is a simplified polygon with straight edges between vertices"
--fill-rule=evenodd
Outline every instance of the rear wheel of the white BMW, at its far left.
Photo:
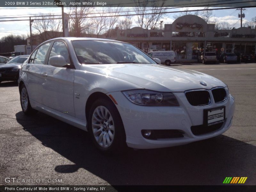
M 37 110 L 33 109 L 30 105 L 28 91 L 25 84 L 22 84 L 20 88 L 20 105 L 23 113 L 26 115 L 33 115 L 37 112 Z

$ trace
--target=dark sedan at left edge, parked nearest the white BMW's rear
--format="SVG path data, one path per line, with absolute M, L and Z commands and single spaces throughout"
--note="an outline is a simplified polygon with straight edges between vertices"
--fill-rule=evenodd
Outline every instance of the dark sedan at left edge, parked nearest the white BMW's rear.
M 9 60 L 6 64 L 0 65 L 0 83 L 2 81 L 17 81 L 22 63 L 29 55 L 17 56 Z

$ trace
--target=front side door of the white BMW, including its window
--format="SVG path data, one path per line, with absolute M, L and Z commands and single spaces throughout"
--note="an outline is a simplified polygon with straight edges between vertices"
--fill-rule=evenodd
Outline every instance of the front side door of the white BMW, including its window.
M 55 41 L 52 45 L 49 59 L 61 55 L 71 66 L 70 54 L 63 41 Z M 64 65 L 64 63 L 63 63 Z M 43 66 L 43 104 L 49 108 L 75 116 L 74 110 L 74 70 L 75 68 L 60 68 L 49 64 Z

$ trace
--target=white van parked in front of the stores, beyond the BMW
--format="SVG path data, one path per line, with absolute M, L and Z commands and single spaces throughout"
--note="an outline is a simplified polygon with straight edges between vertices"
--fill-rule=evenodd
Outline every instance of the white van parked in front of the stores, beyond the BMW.
M 171 63 L 176 62 L 174 51 L 154 51 L 154 52 L 148 52 L 148 55 L 152 58 L 160 59 L 161 63 L 164 63 L 167 66 L 170 66 Z

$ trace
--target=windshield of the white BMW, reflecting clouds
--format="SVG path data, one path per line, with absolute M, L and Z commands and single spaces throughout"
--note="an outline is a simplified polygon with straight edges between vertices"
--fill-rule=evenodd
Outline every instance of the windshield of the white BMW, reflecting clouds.
M 156 64 L 146 53 L 127 43 L 102 40 L 75 40 L 72 41 L 72 44 L 77 59 L 81 64 Z

